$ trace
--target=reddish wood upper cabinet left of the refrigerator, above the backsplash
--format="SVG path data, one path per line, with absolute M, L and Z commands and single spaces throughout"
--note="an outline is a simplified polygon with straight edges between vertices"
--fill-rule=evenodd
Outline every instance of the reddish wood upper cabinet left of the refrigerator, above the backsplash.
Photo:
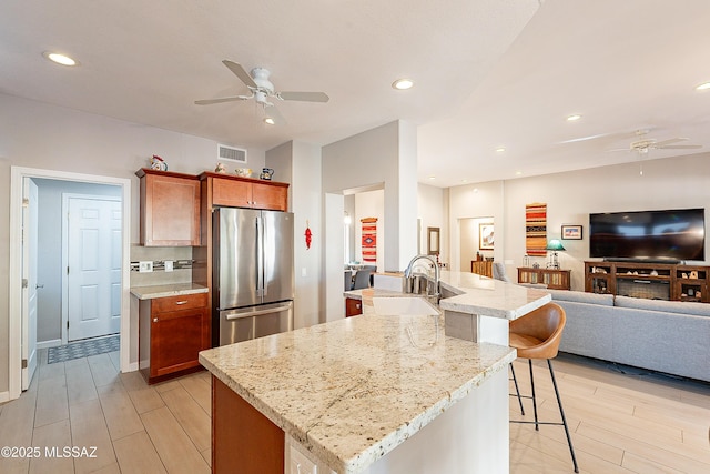
M 141 244 L 200 245 L 200 181 L 197 177 L 140 169 Z

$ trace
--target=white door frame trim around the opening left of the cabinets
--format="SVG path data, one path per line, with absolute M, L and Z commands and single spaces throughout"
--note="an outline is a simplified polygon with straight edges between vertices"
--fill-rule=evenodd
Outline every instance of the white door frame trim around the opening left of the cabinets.
M 121 231 L 120 231 L 120 284 L 116 286 L 120 297 L 120 333 L 121 333 L 121 371 L 129 372 L 132 365 L 130 354 L 130 211 L 131 180 L 113 177 L 101 177 L 81 173 L 11 167 L 10 179 L 10 274 L 9 274 L 9 399 L 17 399 L 21 393 L 23 341 L 28 340 L 27 326 L 22 316 L 22 210 L 23 181 L 30 179 L 48 179 L 78 183 L 110 184 L 120 189 Z M 136 357 L 134 357 L 136 359 Z

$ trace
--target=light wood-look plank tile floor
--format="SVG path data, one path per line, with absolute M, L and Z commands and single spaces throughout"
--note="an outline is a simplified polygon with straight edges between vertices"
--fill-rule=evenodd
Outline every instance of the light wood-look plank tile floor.
M 0 405 L 0 446 L 42 456 L 0 458 L 0 473 L 209 472 L 209 373 L 148 386 L 119 373 L 118 355 L 47 365 L 43 351 L 30 390 Z M 515 364 L 527 393 L 527 362 Z M 581 473 L 710 473 L 710 384 L 564 354 L 554 364 Z M 558 421 L 547 366 L 535 373 L 540 417 Z M 510 416 L 520 418 L 513 397 Z M 97 457 L 45 456 L 63 446 L 97 446 Z M 564 430 L 511 424 L 510 472 L 571 473 Z

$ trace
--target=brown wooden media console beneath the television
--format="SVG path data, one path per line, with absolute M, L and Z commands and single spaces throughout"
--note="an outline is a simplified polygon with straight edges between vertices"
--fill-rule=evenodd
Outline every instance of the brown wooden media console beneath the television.
M 585 291 L 710 303 L 710 266 L 638 261 L 585 262 Z

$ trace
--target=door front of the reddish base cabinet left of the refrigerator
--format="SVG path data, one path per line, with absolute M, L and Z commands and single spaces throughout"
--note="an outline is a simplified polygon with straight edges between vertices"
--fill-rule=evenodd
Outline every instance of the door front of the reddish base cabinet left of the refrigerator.
M 153 313 L 151 320 L 151 376 L 200 365 L 197 353 L 210 346 L 207 309 Z

